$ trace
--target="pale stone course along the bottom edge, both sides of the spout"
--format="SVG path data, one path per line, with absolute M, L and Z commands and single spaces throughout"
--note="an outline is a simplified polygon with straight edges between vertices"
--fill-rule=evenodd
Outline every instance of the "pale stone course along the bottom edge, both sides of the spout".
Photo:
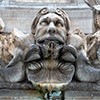
M 36 90 L 0 89 L 0 100 L 45 100 L 45 99 L 43 99 L 43 94 L 39 93 Z M 68 90 L 65 92 L 64 100 L 100 100 L 100 92 Z

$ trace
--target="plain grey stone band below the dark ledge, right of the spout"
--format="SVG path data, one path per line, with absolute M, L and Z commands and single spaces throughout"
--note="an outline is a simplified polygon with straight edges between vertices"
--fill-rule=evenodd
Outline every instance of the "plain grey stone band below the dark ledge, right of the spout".
M 99 91 L 66 91 L 65 100 L 100 100 Z

